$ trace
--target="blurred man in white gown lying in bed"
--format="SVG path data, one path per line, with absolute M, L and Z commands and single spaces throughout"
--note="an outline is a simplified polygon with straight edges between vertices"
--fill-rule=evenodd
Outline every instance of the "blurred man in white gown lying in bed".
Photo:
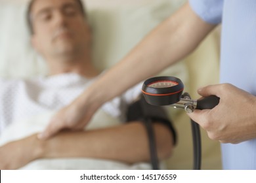
M 28 22 L 33 47 L 45 58 L 49 75 L 1 80 L 0 169 L 150 168 L 140 163 L 150 160 L 143 118 L 122 123 L 140 86 L 102 106 L 86 131 L 37 139 L 54 111 L 68 105 L 100 73 L 91 63 L 91 32 L 79 0 L 32 1 Z M 156 149 L 158 158 L 164 159 L 170 156 L 175 135 L 169 122 L 158 119 L 153 124 Z

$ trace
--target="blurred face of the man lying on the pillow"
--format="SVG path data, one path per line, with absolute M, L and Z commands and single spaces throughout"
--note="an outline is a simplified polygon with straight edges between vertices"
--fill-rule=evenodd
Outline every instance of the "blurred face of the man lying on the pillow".
M 36 0 L 32 7 L 32 43 L 43 56 L 65 56 L 90 43 L 87 22 L 75 0 Z

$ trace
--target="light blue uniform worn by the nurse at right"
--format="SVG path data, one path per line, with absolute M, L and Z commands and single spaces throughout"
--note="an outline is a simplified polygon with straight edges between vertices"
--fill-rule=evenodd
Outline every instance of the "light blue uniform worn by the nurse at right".
M 205 22 L 222 23 L 221 83 L 256 95 L 256 1 L 190 0 L 190 6 Z M 256 169 L 256 139 L 221 147 L 223 169 Z

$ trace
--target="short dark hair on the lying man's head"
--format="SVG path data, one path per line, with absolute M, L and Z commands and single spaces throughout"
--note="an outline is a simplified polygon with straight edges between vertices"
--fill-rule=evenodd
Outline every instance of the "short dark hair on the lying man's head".
M 33 34 L 33 25 L 32 25 L 32 16 L 31 16 L 31 11 L 32 11 L 32 7 L 33 7 L 33 3 L 35 3 L 36 0 L 31 0 L 30 3 L 28 4 L 28 8 L 27 8 L 27 12 L 26 12 L 26 20 L 27 20 L 27 24 L 28 24 L 28 29 L 30 31 L 30 34 Z M 86 16 L 85 13 L 85 8 L 83 6 L 83 3 L 81 0 L 75 0 L 77 1 L 79 8 L 81 10 L 81 13 L 83 14 L 83 16 Z

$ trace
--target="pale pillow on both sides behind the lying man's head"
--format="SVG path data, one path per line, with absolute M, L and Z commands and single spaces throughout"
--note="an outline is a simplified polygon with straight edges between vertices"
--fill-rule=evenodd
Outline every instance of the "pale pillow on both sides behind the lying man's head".
M 35 53 L 30 44 L 26 25 L 28 1 L 1 0 L 0 77 L 27 78 L 47 73 L 45 61 Z M 93 62 L 100 70 L 109 68 L 123 58 L 152 28 L 184 2 L 125 1 L 85 1 L 93 29 Z M 184 64 L 179 63 L 167 73 L 181 75 L 184 80 L 184 69 Z

